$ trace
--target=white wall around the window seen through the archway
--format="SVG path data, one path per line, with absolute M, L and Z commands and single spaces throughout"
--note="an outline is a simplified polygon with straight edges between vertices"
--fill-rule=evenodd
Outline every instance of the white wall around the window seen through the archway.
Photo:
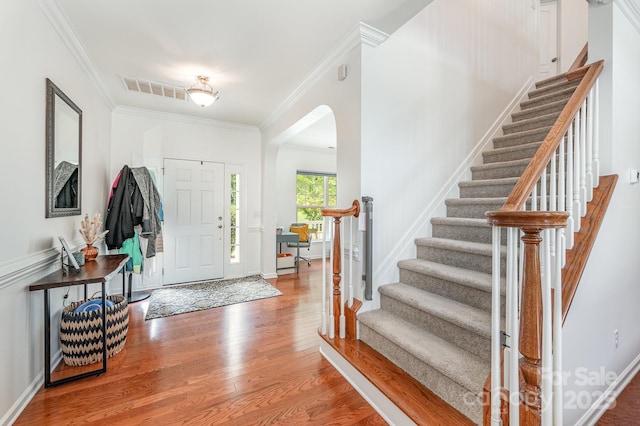
M 296 222 L 296 172 L 298 170 L 335 173 L 335 151 L 304 149 L 296 146 L 284 145 L 278 151 L 276 186 L 276 212 L 278 226 L 288 230 L 289 226 Z M 311 244 L 309 250 L 301 249 L 301 256 L 319 258 L 322 256 L 322 244 Z M 286 249 L 283 252 L 294 253 L 295 249 Z

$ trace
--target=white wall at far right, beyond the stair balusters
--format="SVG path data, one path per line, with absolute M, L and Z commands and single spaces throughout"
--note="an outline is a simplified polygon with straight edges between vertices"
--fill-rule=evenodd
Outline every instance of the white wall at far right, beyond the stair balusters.
M 627 169 L 640 168 L 640 16 L 634 27 L 621 3 L 590 7 L 590 61 L 605 60 L 601 174 L 620 179 L 564 325 L 565 424 L 591 424 L 591 404 L 619 390 L 640 362 L 640 185 L 626 182 Z

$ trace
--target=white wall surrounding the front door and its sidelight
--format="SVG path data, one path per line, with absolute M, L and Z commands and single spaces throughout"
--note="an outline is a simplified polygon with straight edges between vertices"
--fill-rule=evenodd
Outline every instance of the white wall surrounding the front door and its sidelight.
M 246 186 L 241 193 L 246 195 L 247 204 L 245 226 L 240 232 L 243 257 L 239 265 L 225 265 L 225 277 L 261 272 L 261 147 L 256 127 L 119 107 L 113 113 L 112 137 L 110 179 L 125 164 L 146 166 L 159 171 L 161 195 L 164 158 L 211 161 L 225 163 L 227 169 L 244 169 L 241 185 Z M 157 287 L 159 282 L 156 276 L 134 276 L 134 288 Z

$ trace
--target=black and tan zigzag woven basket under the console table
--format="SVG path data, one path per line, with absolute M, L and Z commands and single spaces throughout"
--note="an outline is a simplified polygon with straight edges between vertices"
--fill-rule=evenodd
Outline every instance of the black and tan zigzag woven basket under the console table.
M 110 358 L 120 352 L 127 341 L 129 309 L 123 296 L 107 296 L 107 299 L 115 303 L 107 308 L 107 358 Z M 86 300 L 73 302 L 62 311 L 60 348 L 67 365 L 102 361 L 102 309 L 73 312 L 84 302 Z

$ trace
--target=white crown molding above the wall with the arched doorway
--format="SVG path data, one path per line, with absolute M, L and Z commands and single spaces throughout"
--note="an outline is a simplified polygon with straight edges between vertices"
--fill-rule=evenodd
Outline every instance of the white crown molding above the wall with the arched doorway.
M 382 44 L 389 34 L 380 31 L 371 25 L 359 22 L 343 40 L 334 48 L 320 63 L 309 73 L 309 75 L 296 87 L 296 89 L 275 108 L 273 113 L 267 117 L 258 128 L 264 131 L 272 125 L 287 109 L 300 99 L 328 70 L 334 66 L 338 60 L 351 50 L 361 46 L 377 47 Z

